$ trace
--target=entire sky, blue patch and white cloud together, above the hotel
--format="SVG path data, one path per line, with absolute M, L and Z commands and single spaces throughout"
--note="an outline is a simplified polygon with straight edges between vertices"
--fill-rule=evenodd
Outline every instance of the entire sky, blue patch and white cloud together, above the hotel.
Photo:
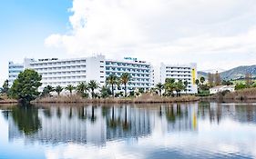
M 8 61 L 103 54 L 199 70 L 256 64 L 255 0 L 3 0 L 0 84 Z

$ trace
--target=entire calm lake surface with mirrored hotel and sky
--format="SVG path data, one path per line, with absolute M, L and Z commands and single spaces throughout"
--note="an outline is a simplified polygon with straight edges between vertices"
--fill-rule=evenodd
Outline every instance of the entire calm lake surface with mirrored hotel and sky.
M 0 105 L 0 158 L 256 158 L 256 104 Z

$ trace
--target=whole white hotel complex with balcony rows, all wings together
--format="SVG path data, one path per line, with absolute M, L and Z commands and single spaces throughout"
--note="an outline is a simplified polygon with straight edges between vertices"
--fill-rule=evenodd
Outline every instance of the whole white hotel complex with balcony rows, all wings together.
M 8 68 L 10 86 L 17 75 L 26 68 L 36 70 L 38 74 L 42 75 L 42 86 L 39 87 L 39 91 L 42 91 L 46 85 L 65 87 L 68 84 L 72 84 L 77 86 L 81 82 L 89 82 L 90 80 L 96 80 L 100 86 L 103 86 L 106 84 L 105 82 L 109 75 L 117 75 L 119 77 L 123 73 L 128 73 L 132 77 L 128 83 L 128 92 L 136 88 L 143 88 L 144 91 L 148 91 L 156 83 L 164 83 L 166 78 L 178 80 L 182 75 L 188 75 L 184 76 L 184 80 L 188 78 L 189 82 L 188 90 L 190 91 L 188 93 L 197 93 L 193 83 L 193 79 L 197 77 L 196 65 L 182 65 L 179 67 L 177 69 L 183 69 L 183 72 L 186 73 L 179 71 L 171 76 L 169 71 L 172 72 L 174 70 L 169 69 L 168 65 L 162 64 L 160 67 L 160 77 L 156 78 L 156 68 L 146 61 L 140 61 L 137 58 L 131 57 L 121 60 L 106 59 L 105 55 L 96 55 L 73 59 L 46 58 L 35 60 L 26 58 L 23 64 L 9 62 Z M 116 91 L 124 89 L 124 85 L 115 87 Z

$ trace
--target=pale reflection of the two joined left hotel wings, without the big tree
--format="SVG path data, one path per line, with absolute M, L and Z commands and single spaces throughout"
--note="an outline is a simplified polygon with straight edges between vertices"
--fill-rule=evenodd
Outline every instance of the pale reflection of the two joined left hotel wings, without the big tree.
M 103 114 L 104 109 L 107 109 L 107 114 Z M 51 107 L 39 109 L 40 128 L 35 133 L 22 132 L 20 124 L 9 118 L 9 139 L 25 137 L 26 141 L 43 144 L 104 145 L 107 140 L 150 134 L 152 122 L 149 116 L 147 110 L 138 111 L 130 106 Z

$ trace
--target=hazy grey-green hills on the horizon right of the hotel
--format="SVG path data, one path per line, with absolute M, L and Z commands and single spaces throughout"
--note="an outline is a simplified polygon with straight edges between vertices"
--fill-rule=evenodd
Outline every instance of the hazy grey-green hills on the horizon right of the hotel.
M 252 77 L 256 76 L 256 65 L 244 65 L 232 68 L 230 70 L 220 73 L 220 77 L 224 80 L 230 79 L 241 79 L 244 78 L 246 74 L 251 74 Z M 199 76 L 204 76 L 207 78 L 208 73 L 199 71 Z

